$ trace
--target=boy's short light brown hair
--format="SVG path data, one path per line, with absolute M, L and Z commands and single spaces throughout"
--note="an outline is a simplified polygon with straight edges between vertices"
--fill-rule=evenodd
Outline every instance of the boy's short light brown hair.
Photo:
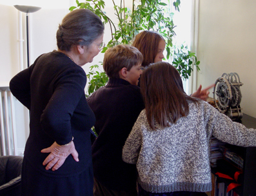
M 103 69 L 110 78 L 119 78 L 119 71 L 127 68 L 128 71 L 143 62 L 143 55 L 139 50 L 129 45 L 117 45 L 108 48 L 104 54 Z

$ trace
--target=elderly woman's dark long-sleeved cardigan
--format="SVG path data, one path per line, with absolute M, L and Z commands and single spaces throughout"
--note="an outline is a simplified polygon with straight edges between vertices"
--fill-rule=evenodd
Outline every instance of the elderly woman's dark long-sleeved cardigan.
M 86 73 L 61 52 L 38 57 L 34 64 L 10 81 L 14 96 L 30 110 L 30 135 L 25 158 L 44 175 L 68 177 L 83 172 L 92 164 L 90 128 L 95 116 L 84 95 Z M 41 153 L 54 141 L 67 144 L 74 137 L 79 162 L 69 155 L 63 166 L 45 170 Z

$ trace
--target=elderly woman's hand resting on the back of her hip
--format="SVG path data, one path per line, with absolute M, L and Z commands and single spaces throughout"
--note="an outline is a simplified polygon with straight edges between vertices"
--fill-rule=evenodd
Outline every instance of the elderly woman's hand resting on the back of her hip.
M 59 169 L 66 160 L 66 157 L 68 157 L 68 155 L 70 154 L 73 156 L 75 161 L 79 161 L 78 153 L 75 150 L 75 144 L 73 141 L 66 145 L 59 145 L 54 142 L 52 146 L 50 146 L 49 148 L 44 148 L 43 150 L 41 150 L 41 152 L 50 153 L 50 155 L 48 155 L 48 157 L 46 157 L 43 162 L 44 166 L 47 164 L 45 168 L 46 170 L 50 170 L 52 168 L 52 171 L 55 171 Z

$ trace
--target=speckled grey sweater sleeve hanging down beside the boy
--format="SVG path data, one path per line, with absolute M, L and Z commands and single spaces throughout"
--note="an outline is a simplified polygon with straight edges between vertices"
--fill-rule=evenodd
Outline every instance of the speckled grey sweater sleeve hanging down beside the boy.
M 146 123 L 143 121 L 142 113 L 143 112 L 141 112 L 137 121 L 133 125 L 132 132 L 126 139 L 126 142 L 123 147 L 123 156 L 122 156 L 123 161 L 130 164 L 137 163 L 139 152 L 141 150 L 141 142 L 142 142 L 141 126 L 143 126 L 143 123 Z

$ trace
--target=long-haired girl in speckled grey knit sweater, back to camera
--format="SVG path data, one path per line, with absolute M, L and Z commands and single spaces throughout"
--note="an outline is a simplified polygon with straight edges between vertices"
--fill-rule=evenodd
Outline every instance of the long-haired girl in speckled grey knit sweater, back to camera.
M 237 146 L 256 146 L 256 130 L 186 95 L 179 73 L 169 63 L 154 63 L 143 71 L 141 92 L 145 109 L 123 147 L 123 161 L 137 166 L 139 195 L 211 191 L 212 135 Z

